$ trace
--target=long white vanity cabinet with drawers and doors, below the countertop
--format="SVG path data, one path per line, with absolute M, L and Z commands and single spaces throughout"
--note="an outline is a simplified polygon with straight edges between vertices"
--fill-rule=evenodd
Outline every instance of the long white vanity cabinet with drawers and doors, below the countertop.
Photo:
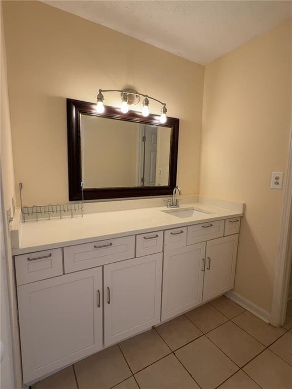
M 181 224 L 14 257 L 24 383 L 233 288 L 240 217 Z

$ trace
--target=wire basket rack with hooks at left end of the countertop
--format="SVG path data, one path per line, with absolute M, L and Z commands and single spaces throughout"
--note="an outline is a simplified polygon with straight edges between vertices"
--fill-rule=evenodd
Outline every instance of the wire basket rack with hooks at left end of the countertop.
M 21 220 L 25 223 L 26 220 L 39 221 L 40 219 L 73 217 L 74 215 L 84 214 L 84 200 L 83 200 L 83 183 L 82 187 L 82 201 L 77 203 L 65 204 L 47 204 L 47 205 L 22 205 L 22 183 L 19 183 L 20 205 L 21 205 Z

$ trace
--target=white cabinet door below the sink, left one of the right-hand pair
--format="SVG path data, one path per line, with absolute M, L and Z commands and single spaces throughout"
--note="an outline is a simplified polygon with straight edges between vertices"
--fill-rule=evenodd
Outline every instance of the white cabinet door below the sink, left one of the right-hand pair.
M 203 242 L 164 253 L 162 321 L 201 304 L 205 247 Z

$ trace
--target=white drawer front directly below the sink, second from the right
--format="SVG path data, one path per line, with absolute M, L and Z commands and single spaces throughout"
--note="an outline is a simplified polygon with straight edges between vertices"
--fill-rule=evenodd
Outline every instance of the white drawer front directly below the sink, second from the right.
M 188 227 L 187 244 L 208 241 L 210 239 L 223 237 L 224 220 L 211 221 L 202 224 L 195 224 Z

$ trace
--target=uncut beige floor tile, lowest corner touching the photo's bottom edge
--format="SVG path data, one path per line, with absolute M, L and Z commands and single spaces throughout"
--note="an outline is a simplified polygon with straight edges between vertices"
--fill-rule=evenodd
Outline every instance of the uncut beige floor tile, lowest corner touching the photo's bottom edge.
M 215 388 L 238 370 L 206 336 L 179 348 L 175 355 L 202 389 Z

